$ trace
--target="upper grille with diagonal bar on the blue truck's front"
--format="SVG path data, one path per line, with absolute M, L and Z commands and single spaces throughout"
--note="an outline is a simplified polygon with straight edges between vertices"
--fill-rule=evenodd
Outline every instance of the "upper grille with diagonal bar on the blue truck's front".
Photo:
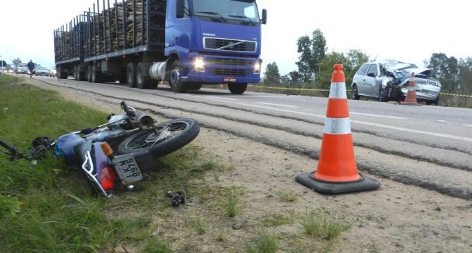
M 214 37 L 203 38 L 203 47 L 205 49 L 254 53 L 256 46 L 256 42 L 246 40 L 229 40 Z

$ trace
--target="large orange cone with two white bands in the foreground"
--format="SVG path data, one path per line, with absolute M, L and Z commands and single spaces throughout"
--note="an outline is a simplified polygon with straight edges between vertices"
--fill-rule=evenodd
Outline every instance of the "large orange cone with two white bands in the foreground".
M 295 180 L 328 194 L 375 190 L 380 182 L 357 173 L 343 65 L 335 64 L 317 171 Z

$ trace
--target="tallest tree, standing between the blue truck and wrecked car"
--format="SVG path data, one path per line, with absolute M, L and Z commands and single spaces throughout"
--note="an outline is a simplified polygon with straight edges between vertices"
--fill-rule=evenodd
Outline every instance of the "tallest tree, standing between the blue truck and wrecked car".
M 326 39 L 321 30 L 314 30 L 312 38 L 305 35 L 299 37 L 297 42 L 298 46 L 298 73 L 300 74 L 300 81 L 305 84 L 310 80 L 316 78 L 319 71 L 319 63 L 326 56 Z

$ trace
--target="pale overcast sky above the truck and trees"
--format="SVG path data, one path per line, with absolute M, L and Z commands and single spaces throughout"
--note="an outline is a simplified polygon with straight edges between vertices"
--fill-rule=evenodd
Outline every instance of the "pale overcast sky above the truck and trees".
M 100 0 L 102 3 L 103 0 Z M 114 1 L 110 1 L 114 2 Z M 92 7 L 94 0 L 0 1 L 0 59 L 54 64 L 53 30 Z M 262 72 L 276 62 L 281 75 L 296 71 L 296 41 L 320 29 L 328 53 L 359 49 L 371 59 L 423 66 L 432 53 L 472 57 L 468 1 L 258 0 L 267 9 L 262 26 Z M 342 63 L 342 62 L 341 62 Z

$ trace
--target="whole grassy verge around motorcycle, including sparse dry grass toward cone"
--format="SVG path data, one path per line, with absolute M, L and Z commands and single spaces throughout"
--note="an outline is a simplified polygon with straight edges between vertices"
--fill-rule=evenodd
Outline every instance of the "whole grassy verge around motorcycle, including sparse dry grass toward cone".
M 19 150 L 28 150 L 35 137 L 56 139 L 99 125 L 109 113 L 23 81 L 0 77 L 0 139 Z M 328 222 L 341 228 L 315 220 L 321 223 L 316 236 L 301 225 L 305 213 L 253 212 L 243 186 L 220 180 L 235 170 L 191 143 L 158 159 L 135 190 L 105 199 L 78 168 L 52 154 L 33 165 L 0 152 L 0 252 L 332 252 L 326 241 L 348 231 L 335 216 Z M 184 191 L 186 204 L 171 207 L 170 190 Z M 297 199 L 284 191 L 278 197 L 285 204 Z

